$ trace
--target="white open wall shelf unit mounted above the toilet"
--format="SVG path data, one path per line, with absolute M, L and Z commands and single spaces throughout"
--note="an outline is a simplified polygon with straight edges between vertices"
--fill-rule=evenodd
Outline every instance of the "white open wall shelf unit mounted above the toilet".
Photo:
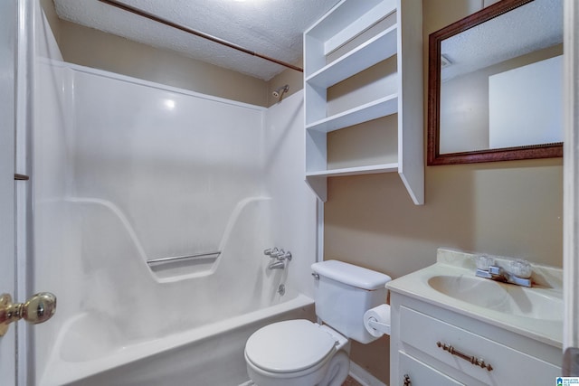
M 356 88 L 352 77 L 364 79 L 364 71 L 394 56 L 394 73 L 382 74 L 384 81 L 370 81 L 340 97 L 339 103 L 349 97 L 354 107 L 328 108 L 337 103 L 328 89 L 346 82 Z M 304 68 L 306 179 L 319 199 L 327 199 L 327 177 L 398 172 L 413 202 L 423 204 L 422 1 L 342 0 L 304 33 Z M 361 93 L 371 100 L 359 98 Z M 328 167 L 327 133 L 394 114 L 396 163 Z

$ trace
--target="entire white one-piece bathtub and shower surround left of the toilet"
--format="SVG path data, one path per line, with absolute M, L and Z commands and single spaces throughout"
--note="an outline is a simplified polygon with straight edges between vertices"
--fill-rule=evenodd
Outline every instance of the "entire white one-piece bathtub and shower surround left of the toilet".
M 59 305 L 29 376 L 248 381 L 249 335 L 313 315 L 301 93 L 266 109 L 71 65 L 37 19 L 32 287 Z

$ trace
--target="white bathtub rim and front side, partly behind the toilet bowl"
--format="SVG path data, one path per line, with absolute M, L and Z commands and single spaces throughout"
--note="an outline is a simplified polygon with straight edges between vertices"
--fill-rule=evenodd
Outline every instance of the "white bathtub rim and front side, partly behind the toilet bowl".
M 114 341 L 104 336 L 84 334 L 85 329 L 90 330 L 91 323 L 102 321 L 79 315 L 63 326 L 46 371 L 37 383 L 42 386 L 241 385 L 249 380 L 243 348 L 254 331 L 280 320 L 312 317 L 313 300 L 298 295 L 275 306 L 162 339 L 115 347 Z M 98 355 L 100 351 L 95 345 L 102 346 L 102 355 Z

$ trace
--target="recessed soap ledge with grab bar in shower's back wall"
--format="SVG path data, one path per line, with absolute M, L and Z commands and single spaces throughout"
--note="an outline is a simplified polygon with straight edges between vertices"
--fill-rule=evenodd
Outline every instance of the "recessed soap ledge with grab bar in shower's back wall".
M 211 274 L 220 255 L 221 251 L 214 251 L 150 259 L 147 265 L 159 280 L 174 281 Z

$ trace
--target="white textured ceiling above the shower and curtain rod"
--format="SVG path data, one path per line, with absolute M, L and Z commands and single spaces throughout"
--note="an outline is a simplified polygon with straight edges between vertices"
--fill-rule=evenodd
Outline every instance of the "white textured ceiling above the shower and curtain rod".
M 337 0 L 120 0 L 168 21 L 280 61 L 302 56 L 302 33 Z M 279 64 L 129 14 L 98 0 L 54 0 L 59 16 L 72 23 L 129 40 L 180 52 L 199 61 L 270 80 Z

